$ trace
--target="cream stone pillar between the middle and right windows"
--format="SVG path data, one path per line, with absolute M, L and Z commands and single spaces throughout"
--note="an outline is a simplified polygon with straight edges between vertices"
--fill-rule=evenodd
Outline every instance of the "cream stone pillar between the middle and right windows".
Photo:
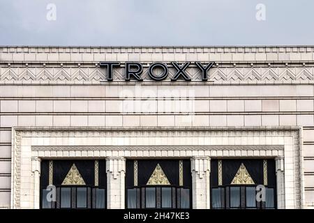
M 190 160 L 192 171 L 193 209 L 209 209 L 211 158 L 208 156 L 195 156 Z

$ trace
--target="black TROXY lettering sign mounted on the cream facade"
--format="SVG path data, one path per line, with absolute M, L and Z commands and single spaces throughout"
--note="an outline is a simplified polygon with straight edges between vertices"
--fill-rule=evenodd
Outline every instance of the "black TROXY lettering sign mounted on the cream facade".
M 100 67 L 107 68 L 107 81 L 113 80 L 113 70 L 114 68 L 118 68 L 121 66 L 121 63 L 119 62 L 100 62 Z M 171 77 L 172 81 L 177 81 L 178 79 L 184 79 L 186 81 L 190 81 L 190 76 L 186 73 L 186 68 L 190 66 L 191 62 L 186 63 L 177 63 L 177 62 L 171 62 L 171 65 L 177 72 L 173 77 Z M 208 71 L 213 66 L 214 62 L 209 62 L 207 64 L 202 64 L 200 62 L 194 62 L 194 64 L 197 66 L 197 68 L 200 69 L 200 73 L 202 75 L 202 80 L 207 81 L 208 79 Z M 138 62 L 126 62 L 124 64 L 125 66 L 125 72 L 124 72 L 124 78 L 126 81 L 130 81 L 131 79 L 135 79 L 137 81 L 142 81 L 141 78 L 142 72 L 143 72 L 143 65 L 142 63 Z M 156 74 L 154 72 L 155 69 L 162 70 L 159 74 Z M 168 76 L 169 73 L 169 66 L 167 66 L 166 63 L 162 62 L 155 62 L 151 63 L 151 65 L 148 68 L 148 74 L 149 77 L 155 81 L 162 81 Z

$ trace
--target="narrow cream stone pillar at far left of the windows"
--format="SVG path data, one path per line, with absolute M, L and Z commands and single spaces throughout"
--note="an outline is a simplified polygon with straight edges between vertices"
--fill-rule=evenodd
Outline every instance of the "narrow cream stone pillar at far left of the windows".
M 31 176 L 32 176 L 32 187 L 33 187 L 33 206 L 34 209 L 40 207 L 40 158 L 31 157 Z

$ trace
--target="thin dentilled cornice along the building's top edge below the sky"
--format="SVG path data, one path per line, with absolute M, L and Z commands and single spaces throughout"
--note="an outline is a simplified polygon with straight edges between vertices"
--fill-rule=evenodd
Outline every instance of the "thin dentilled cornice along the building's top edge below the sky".
M 252 46 L 0 46 L 0 52 L 11 53 L 249 53 L 249 52 L 314 52 L 313 45 L 252 45 Z

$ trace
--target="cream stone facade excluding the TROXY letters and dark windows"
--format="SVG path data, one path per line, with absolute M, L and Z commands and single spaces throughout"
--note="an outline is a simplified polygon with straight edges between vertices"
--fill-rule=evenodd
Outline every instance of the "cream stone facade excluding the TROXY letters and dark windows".
M 107 82 L 100 61 L 140 61 L 144 81 Z M 156 82 L 156 61 L 214 66 Z M 106 159 L 107 208 L 124 208 L 128 157 L 190 158 L 193 208 L 210 206 L 211 157 L 274 157 L 278 208 L 314 208 L 313 61 L 311 46 L 0 47 L 0 207 L 39 207 L 47 157 Z

